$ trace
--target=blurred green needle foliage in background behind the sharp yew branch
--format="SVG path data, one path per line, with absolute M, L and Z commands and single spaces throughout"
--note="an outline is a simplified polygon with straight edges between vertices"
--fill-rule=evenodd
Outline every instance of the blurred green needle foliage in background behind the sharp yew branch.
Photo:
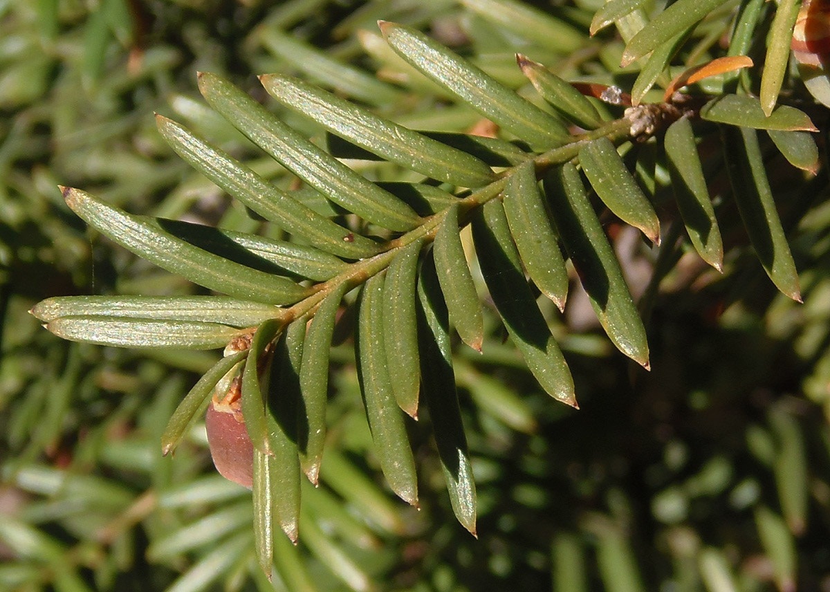
M 623 43 L 587 34 L 601 3 L 532 2 L 561 26 L 551 39 L 488 18 L 487 2 L 0 2 L 0 590 L 830 590 L 824 168 L 809 181 L 768 169 L 776 195 L 802 204 L 789 231 L 803 305 L 766 280 L 739 223 L 730 237 L 724 208 L 730 272 L 693 253 L 671 268 L 647 317 L 650 374 L 612 351 L 584 299 L 564 321 L 550 311 L 579 411 L 498 339 L 458 350 L 478 540 L 452 515 L 427 429 L 410 426 L 421 510 L 388 491 L 352 347 L 335 348 L 325 484 L 303 492 L 299 546 L 276 537 L 273 582 L 256 565 L 250 494 L 214 472 L 203 429 L 160 454 L 170 413 L 216 355 L 67 343 L 27 314 L 47 296 L 194 291 L 86 232 L 59 183 L 132 212 L 260 227 L 166 147 L 154 111 L 291 183 L 207 108 L 197 71 L 260 99 L 256 74 L 299 73 L 406 125 L 469 130 L 480 117 L 378 43 L 378 18 L 432 32 L 522 93 L 516 51 L 628 88 Z M 726 4 L 676 63 L 717 46 Z M 383 179 L 388 165 L 365 166 Z M 608 226 L 637 291 L 659 259 L 631 230 Z

